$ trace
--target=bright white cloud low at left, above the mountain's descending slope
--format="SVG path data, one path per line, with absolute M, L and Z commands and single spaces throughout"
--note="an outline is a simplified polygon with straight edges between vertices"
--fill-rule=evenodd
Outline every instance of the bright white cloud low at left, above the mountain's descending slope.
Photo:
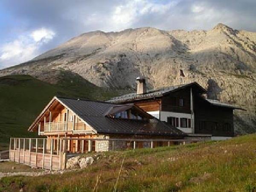
M 38 55 L 40 47 L 52 40 L 54 36 L 55 32 L 45 28 L 20 35 L 17 39 L 0 47 L 0 63 L 4 66 L 12 66 L 28 61 Z

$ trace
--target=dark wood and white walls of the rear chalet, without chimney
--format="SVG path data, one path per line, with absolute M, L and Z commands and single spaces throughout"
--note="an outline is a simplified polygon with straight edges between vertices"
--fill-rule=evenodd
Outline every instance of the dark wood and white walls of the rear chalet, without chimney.
M 197 86 L 187 86 L 161 96 L 122 100 L 120 103 L 134 103 L 187 133 L 233 137 L 234 108 L 211 105 L 202 93 L 204 91 Z

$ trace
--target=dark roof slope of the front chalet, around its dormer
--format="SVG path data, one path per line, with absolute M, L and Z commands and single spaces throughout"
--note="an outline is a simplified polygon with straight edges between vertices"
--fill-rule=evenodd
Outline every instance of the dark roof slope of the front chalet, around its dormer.
M 151 116 L 149 120 L 115 119 L 106 116 L 113 108 L 128 105 L 56 97 L 59 102 L 87 122 L 98 134 L 139 134 L 184 137 L 185 133 Z M 129 105 L 129 107 L 131 107 Z M 137 106 L 133 106 L 138 108 Z

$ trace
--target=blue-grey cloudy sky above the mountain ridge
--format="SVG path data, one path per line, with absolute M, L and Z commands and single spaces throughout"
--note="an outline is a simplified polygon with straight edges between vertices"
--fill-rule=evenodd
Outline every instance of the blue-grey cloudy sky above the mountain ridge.
M 256 0 L 0 0 L 0 69 L 84 32 L 151 26 L 256 32 Z

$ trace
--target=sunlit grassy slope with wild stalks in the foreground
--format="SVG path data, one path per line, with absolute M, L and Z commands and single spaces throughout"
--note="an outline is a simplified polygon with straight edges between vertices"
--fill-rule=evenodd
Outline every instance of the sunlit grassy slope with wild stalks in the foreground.
M 126 155 L 117 185 L 120 192 L 252 192 L 256 190 L 255 150 L 256 134 L 251 134 L 221 142 L 105 152 L 87 169 L 36 179 L 5 177 L 0 187 L 91 192 L 98 177 L 97 191 L 112 192 Z

